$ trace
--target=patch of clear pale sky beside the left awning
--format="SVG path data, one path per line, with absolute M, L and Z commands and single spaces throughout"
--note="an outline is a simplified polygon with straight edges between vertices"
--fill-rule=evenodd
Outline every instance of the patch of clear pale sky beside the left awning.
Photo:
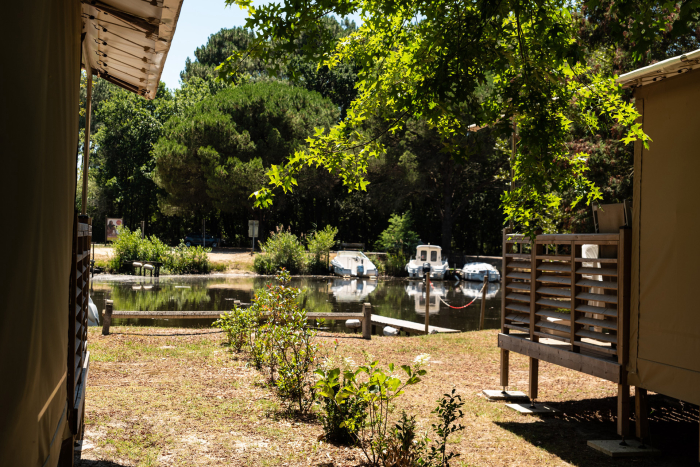
M 262 3 L 266 2 L 253 2 Z M 184 0 L 160 80 L 170 89 L 179 88 L 180 72 L 187 57 L 194 60 L 195 49 L 206 44 L 210 35 L 222 28 L 244 26 L 247 17 L 247 11 L 237 6 L 227 7 L 224 0 Z M 360 24 L 359 17 L 351 19 Z

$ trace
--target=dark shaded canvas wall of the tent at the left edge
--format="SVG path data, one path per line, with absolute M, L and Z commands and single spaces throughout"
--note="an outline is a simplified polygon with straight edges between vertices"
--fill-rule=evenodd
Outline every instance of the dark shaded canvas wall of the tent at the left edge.
M 3 3 L 2 466 L 56 465 L 66 422 L 80 32 L 75 0 Z

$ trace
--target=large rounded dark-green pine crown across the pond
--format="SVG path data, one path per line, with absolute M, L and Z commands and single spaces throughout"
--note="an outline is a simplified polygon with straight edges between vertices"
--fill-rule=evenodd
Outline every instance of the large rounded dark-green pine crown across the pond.
M 306 145 L 338 118 L 318 93 L 278 82 L 226 89 L 166 124 L 155 144 L 155 180 L 171 211 L 252 209 L 265 169 Z

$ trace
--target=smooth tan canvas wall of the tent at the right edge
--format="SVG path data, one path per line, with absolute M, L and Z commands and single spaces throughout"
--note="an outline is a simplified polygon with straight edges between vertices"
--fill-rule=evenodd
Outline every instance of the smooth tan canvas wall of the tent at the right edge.
M 644 86 L 636 96 L 653 142 L 635 164 L 631 382 L 697 404 L 700 70 Z

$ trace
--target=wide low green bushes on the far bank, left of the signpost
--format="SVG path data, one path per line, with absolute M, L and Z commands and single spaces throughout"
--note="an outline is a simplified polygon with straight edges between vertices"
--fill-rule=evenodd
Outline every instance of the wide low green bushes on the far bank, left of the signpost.
M 159 261 L 172 274 L 202 274 L 211 271 L 207 256 L 210 248 L 188 247 L 182 242 L 177 247 L 170 248 L 155 235 L 142 239 L 141 229 L 132 232 L 127 227 L 121 228 L 112 247 L 114 257 L 109 260 L 112 271 L 128 271 L 132 261 Z

